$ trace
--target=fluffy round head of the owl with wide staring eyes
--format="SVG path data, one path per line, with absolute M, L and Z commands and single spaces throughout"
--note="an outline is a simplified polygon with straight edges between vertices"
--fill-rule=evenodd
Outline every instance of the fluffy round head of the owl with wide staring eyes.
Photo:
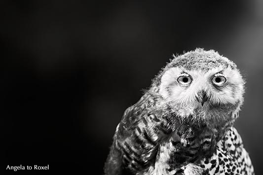
M 153 82 L 160 104 L 185 121 L 230 120 L 243 103 L 244 80 L 239 70 L 214 50 L 197 48 L 174 56 Z

